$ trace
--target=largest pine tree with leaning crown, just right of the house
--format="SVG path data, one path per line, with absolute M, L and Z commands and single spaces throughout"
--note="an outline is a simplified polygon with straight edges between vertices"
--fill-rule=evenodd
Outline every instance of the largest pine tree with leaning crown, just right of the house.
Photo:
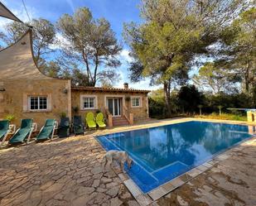
M 131 79 L 149 77 L 152 84 L 163 84 L 171 113 L 171 85 L 186 82 L 196 56 L 210 53 L 209 46 L 242 8 L 241 1 L 143 0 L 145 22 L 131 22 L 123 29 L 134 59 Z

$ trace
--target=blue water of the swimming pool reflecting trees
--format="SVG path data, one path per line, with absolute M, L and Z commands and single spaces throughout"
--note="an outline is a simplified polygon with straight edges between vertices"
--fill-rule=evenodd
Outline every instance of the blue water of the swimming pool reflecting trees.
M 97 139 L 107 151 L 128 152 L 135 162 L 128 175 L 147 193 L 249 137 L 248 126 L 191 121 Z

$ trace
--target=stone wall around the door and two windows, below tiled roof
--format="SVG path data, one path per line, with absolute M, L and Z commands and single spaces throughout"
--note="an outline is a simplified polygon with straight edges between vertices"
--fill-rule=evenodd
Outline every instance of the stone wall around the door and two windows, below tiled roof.
M 81 108 L 81 103 L 80 103 L 80 95 L 95 95 L 97 96 L 98 99 L 98 107 L 96 109 L 86 109 L 83 110 Z M 132 96 L 140 96 L 142 99 L 142 107 L 140 108 L 132 108 L 131 107 L 131 100 L 127 101 L 128 97 Z M 102 91 L 86 91 L 86 90 L 75 90 L 72 89 L 71 92 L 71 104 L 72 108 L 78 107 L 79 112 L 76 114 L 81 115 L 83 118 L 85 118 L 86 113 L 93 112 L 96 113 L 97 111 L 100 111 L 104 113 L 104 108 L 105 108 L 105 99 L 110 97 L 114 98 L 122 98 L 122 103 L 126 105 L 128 108 L 129 113 L 133 113 L 134 120 L 139 120 L 139 119 L 145 119 L 148 117 L 148 112 L 147 112 L 147 93 L 134 93 L 134 92 L 115 92 L 115 91 L 109 91 L 109 92 L 102 92 Z M 122 112 L 121 112 L 122 113 Z M 74 111 L 72 112 L 72 115 L 74 115 Z

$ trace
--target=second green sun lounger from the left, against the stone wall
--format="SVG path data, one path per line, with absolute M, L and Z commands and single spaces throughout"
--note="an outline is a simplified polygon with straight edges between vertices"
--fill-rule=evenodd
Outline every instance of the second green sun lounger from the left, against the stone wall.
M 10 139 L 10 144 L 23 143 L 27 138 L 27 142 L 30 140 L 31 133 L 33 132 L 33 120 L 22 119 L 21 127 L 15 132 Z

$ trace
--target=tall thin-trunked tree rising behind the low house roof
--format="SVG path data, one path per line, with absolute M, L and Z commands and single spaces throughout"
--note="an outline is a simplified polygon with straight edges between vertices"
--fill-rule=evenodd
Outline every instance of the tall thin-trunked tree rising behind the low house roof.
M 77 65 L 83 65 L 87 85 L 95 86 L 99 81 L 118 79 L 113 68 L 121 64 L 118 54 L 122 47 L 106 19 L 94 19 L 87 7 L 80 7 L 73 16 L 64 14 L 60 17 L 58 28 L 68 40 L 62 45 L 65 57 L 62 62 L 75 60 Z

